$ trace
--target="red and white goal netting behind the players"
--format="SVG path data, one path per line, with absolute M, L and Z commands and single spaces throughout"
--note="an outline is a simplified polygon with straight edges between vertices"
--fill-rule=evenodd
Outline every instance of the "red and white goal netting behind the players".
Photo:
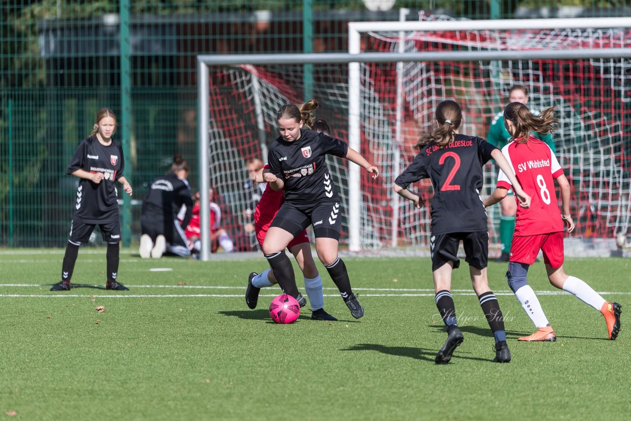
M 628 47 L 631 33 L 619 30 L 542 30 L 519 32 L 370 33 L 366 51 L 443 51 L 481 49 L 532 50 L 554 47 Z M 299 56 L 297 56 L 299 61 Z M 392 181 L 415 155 L 418 136 L 430 127 L 433 110 L 447 98 L 463 106 L 463 133 L 487 138 L 490 123 L 507 99 L 507 90 L 524 85 L 534 110 L 556 105 L 561 126 L 554 134 L 556 153 L 572 184 L 572 213 L 578 237 L 613 238 L 627 234 L 630 215 L 631 63 L 625 59 L 524 60 L 475 62 L 405 62 L 361 64 L 362 153 L 378 165 L 377 181 L 362 173 L 361 244 L 364 249 L 427 247 L 430 232 L 427 206 L 413 209 L 397 201 Z M 401 80 L 403 107 L 398 124 L 396 98 Z M 226 227 L 244 239 L 249 194 L 245 163 L 264 156 L 277 136 L 276 112 L 283 104 L 299 104 L 304 95 L 303 68 L 240 66 L 212 68 L 209 131 L 211 184 L 225 202 Z M 348 141 L 348 66 L 314 65 L 313 97 L 337 137 Z M 397 136 L 397 133 L 401 133 Z M 348 209 L 348 163 L 332 158 L 334 181 Z M 495 169 L 486 167 L 482 196 L 494 188 Z M 432 187 L 420 182 L 429 205 Z M 393 218 L 398 211 L 398 220 Z M 497 253 L 499 206 L 489 211 L 493 252 Z M 348 240 L 348 215 L 342 242 Z

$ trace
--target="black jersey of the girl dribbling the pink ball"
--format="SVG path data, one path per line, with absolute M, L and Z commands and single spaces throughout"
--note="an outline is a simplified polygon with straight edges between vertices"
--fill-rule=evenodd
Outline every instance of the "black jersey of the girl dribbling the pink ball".
M 326 155 L 346 157 L 348 145 L 316 131 L 301 129 L 293 142 L 279 137 L 269 148 L 268 165 L 272 174 L 285 182 L 285 201 L 295 205 L 315 205 L 339 201 L 331 179 Z

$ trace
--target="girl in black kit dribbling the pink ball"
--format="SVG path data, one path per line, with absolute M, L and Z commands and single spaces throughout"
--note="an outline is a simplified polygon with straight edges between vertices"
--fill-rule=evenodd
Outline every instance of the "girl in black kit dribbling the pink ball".
M 315 109 L 305 107 L 306 109 Z M 285 254 L 285 247 L 302 230 L 313 225 L 315 249 L 331 279 L 338 287 L 351 315 L 363 316 L 363 307 L 351 290 L 348 271 L 338 256 L 339 197 L 326 164 L 326 155 L 345 157 L 368 172 L 379 175 L 379 169 L 365 160 L 345 142 L 322 133 L 303 129 L 305 118 L 296 105 L 283 105 L 276 119 L 281 136 L 269 148 L 269 172 L 264 181 L 280 191 L 285 189 L 285 203 L 274 217 L 263 242 L 263 252 L 278 285 L 285 294 L 300 302 L 304 297 L 298 292 L 292 263 Z

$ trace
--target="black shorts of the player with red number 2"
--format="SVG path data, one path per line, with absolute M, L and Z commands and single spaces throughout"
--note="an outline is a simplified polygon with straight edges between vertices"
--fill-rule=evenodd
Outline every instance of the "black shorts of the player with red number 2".
M 463 241 L 464 259 L 469 266 L 484 269 L 488 266 L 488 231 L 450 232 L 432 235 L 430 251 L 432 253 L 432 271 L 452 261 L 454 269 L 460 266 L 457 258 L 460 241 Z

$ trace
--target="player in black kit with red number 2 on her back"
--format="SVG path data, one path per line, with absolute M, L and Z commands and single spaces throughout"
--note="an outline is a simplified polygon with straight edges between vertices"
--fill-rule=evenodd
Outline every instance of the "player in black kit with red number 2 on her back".
M 463 334 L 457 328 L 456 308 L 450 292 L 452 270 L 460 264 L 456 256 L 461 240 L 473 289 L 495 336 L 495 360 L 509 362 L 510 351 L 506 345 L 502 311 L 488 287 L 487 214 L 480 199 L 482 167 L 493 158 L 506 174 L 510 174 L 511 181 L 517 180 L 498 148 L 484 139 L 458 134 L 462 121 L 462 111 L 456 102 L 447 100 L 438 105 L 437 128 L 420 138 L 416 144 L 420 152 L 396 178 L 394 191 L 420 208 L 420 195 L 409 191 L 408 186 L 420 179 L 432 180 L 430 252 L 435 301 L 448 333 L 445 345 L 436 355 L 436 364 L 449 362 L 452 353 L 463 341 Z M 528 207 L 530 198 L 519 183 L 513 184 L 513 188 L 522 206 Z

